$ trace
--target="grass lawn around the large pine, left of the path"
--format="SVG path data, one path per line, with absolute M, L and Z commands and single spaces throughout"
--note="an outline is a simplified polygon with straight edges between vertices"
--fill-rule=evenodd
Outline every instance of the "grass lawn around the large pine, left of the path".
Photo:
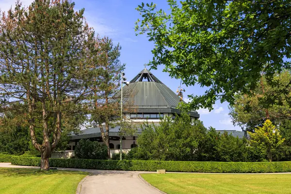
M 29 168 L 0 168 L 0 194 L 75 194 L 88 173 Z

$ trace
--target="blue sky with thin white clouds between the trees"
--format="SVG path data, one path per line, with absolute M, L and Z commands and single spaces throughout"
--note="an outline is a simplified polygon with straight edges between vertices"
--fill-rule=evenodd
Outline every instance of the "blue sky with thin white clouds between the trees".
M 23 5 L 29 5 L 32 0 L 22 0 Z M 120 60 L 126 64 L 126 77 L 131 80 L 139 73 L 144 65 L 152 59 L 151 49 L 153 43 L 147 40 L 146 35 L 135 35 L 134 22 L 140 17 L 135 8 L 141 2 L 151 2 L 142 0 L 74 0 L 76 10 L 85 8 L 85 17 L 89 26 L 93 27 L 100 36 L 108 36 L 113 39 L 113 43 L 119 43 L 122 47 Z M 159 8 L 168 9 L 166 0 L 153 1 Z M 1 10 L 8 10 L 14 0 L 0 0 Z M 158 77 L 173 91 L 176 91 L 180 81 L 169 77 L 168 73 L 162 72 L 163 66 L 158 66 L 158 70 L 151 72 Z M 190 94 L 203 95 L 205 88 L 195 85 L 191 87 L 182 86 L 186 92 L 185 97 Z M 187 101 L 187 99 L 186 99 Z M 206 127 L 214 127 L 219 130 L 241 130 L 240 127 L 233 126 L 228 116 L 228 103 L 217 102 L 209 112 L 199 109 L 200 120 Z

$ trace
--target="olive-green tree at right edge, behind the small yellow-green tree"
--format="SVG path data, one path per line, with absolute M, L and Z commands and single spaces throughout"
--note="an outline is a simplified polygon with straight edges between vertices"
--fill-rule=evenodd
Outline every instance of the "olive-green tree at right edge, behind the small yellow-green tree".
M 291 108 L 288 105 L 291 86 L 286 87 L 291 80 L 291 72 L 284 70 L 280 74 L 275 74 L 272 80 L 275 85 L 269 84 L 266 79 L 266 75 L 262 73 L 256 87 L 250 91 L 251 94 L 237 93 L 235 103 L 229 106 L 232 122 L 243 130 L 254 132 L 254 129 L 261 126 L 266 119 L 276 124 L 291 119 Z M 277 92 L 282 90 L 288 92 L 278 96 Z M 268 100 L 273 97 L 275 97 L 275 104 L 268 103 Z

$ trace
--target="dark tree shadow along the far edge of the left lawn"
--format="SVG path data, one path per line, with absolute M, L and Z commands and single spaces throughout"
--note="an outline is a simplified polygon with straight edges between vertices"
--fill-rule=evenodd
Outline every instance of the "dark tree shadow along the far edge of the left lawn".
M 30 168 L 0 168 L 0 177 L 27 177 L 27 176 L 43 176 L 43 175 L 87 175 L 86 172 L 65 171 L 65 170 L 49 170 L 41 171 L 40 169 Z

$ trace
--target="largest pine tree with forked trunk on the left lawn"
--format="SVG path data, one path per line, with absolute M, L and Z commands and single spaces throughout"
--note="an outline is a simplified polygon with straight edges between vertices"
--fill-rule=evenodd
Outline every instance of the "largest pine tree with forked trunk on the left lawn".
M 72 104 L 80 104 L 91 90 L 86 79 L 92 66 L 88 59 L 95 54 L 94 32 L 84 21 L 84 9 L 75 12 L 74 5 L 35 0 L 23 8 L 16 2 L 0 18 L 1 108 L 20 103 L 17 111 L 26 114 L 42 170 L 49 169 L 49 156 L 60 141 L 63 116 L 79 113 Z

